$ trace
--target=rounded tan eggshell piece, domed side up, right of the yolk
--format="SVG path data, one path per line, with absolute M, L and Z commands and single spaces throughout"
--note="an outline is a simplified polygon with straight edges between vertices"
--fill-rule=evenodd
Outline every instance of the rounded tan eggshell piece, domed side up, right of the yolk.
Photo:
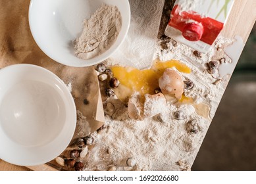
M 163 76 L 159 78 L 159 87 L 164 95 L 174 95 L 177 99 L 182 98 L 183 80 L 180 74 L 171 68 L 167 68 Z

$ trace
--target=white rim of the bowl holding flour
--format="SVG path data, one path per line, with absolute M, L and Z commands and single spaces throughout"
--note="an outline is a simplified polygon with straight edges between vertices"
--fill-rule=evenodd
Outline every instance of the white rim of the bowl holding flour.
M 64 64 L 66 66 L 72 66 L 72 67 L 86 67 L 86 66 L 93 66 L 95 64 L 99 64 L 100 62 L 103 62 L 104 60 L 106 60 L 107 58 L 111 57 L 111 55 L 113 55 L 120 47 L 120 45 L 122 45 L 122 43 L 124 42 L 124 39 L 126 37 L 126 35 L 128 34 L 128 30 L 130 28 L 130 19 L 131 19 L 131 11 L 130 11 L 130 3 L 129 0 L 122 0 L 124 1 L 124 3 L 126 3 L 126 9 L 129 12 L 126 16 L 127 16 L 127 20 L 124 21 L 123 20 L 123 16 L 122 16 L 122 27 L 121 30 L 118 34 L 118 37 L 120 35 L 120 33 L 122 33 L 122 39 L 120 39 L 120 42 L 118 44 L 113 43 L 113 45 L 111 45 L 111 47 L 105 51 L 104 53 L 102 53 L 101 55 L 97 56 L 100 59 L 95 60 L 94 62 L 90 62 L 90 60 L 93 60 L 97 57 L 93 57 L 90 58 L 88 60 L 83 60 L 81 58 L 77 58 L 77 60 L 79 60 L 80 62 L 63 62 L 61 59 L 59 59 L 56 55 L 51 55 L 51 53 L 49 53 L 47 51 L 47 49 L 45 49 L 43 47 L 43 45 L 41 44 L 41 42 L 39 41 L 39 36 L 36 34 L 36 32 L 34 31 L 34 26 L 32 25 L 32 5 L 35 1 L 40 1 L 40 0 L 30 0 L 30 5 L 29 5 L 29 10 L 28 10 L 28 23 L 29 23 L 29 27 L 30 27 L 30 32 L 32 33 L 32 37 L 34 38 L 34 40 L 36 41 L 36 44 L 38 45 L 39 49 L 41 49 L 41 51 L 43 51 L 43 53 L 45 53 L 49 58 L 55 60 L 56 62 L 59 62 L 61 64 Z M 122 13 L 122 12 L 121 12 Z M 125 24 L 124 24 L 125 22 Z M 123 25 L 126 25 L 125 27 Z M 123 30 L 123 31 L 122 31 Z M 116 40 L 118 39 L 118 37 L 116 38 Z M 75 38 L 74 38 L 75 39 Z M 107 54 L 105 54 L 107 53 Z M 89 62 L 86 62 L 89 61 Z

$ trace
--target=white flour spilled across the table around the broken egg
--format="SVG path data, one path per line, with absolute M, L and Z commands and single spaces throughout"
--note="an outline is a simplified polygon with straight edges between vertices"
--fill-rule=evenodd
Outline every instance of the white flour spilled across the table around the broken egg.
M 180 73 L 184 80 L 194 83 L 194 87 L 185 89 L 184 93 L 196 104 L 209 104 L 213 118 L 228 78 L 213 84 L 217 79 L 206 72 L 205 64 L 213 55 L 223 57 L 224 53 L 217 51 L 217 47 L 232 41 L 218 39 L 216 47 L 201 58 L 195 57 L 186 45 L 177 43 L 174 47 L 170 40 L 166 43 L 168 49 L 163 50 L 160 42 L 156 57 L 175 58 L 192 69 L 191 74 Z M 199 116 L 192 104 L 155 103 L 155 99 L 147 98 L 144 114 L 157 115 L 142 121 L 130 119 L 126 105 L 118 99 L 109 98 L 104 104 L 107 128 L 91 134 L 95 142 L 86 157 L 80 158 L 86 163 L 84 170 L 190 170 L 211 123 Z M 134 167 L 127 166 L 128 158 L 136 162 Z

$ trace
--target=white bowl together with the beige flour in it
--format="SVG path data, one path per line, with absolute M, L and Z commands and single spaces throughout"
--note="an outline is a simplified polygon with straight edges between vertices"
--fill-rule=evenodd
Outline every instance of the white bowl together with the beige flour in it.
M 32 0 L 29 23 L 40 49 L 75 67 L 111 57 L 130 26 L 128 0 Z

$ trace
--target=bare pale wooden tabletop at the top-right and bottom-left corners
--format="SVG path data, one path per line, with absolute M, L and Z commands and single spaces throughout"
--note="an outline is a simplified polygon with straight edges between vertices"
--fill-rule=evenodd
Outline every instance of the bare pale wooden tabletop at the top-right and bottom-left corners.
M 243 39 L 243 42 L 245 43 L 249 37 L 251 29 L 253 28 L 253 24 L 255 24 L 255 9 L 255 0 L 235 0 L 234 7 L 230 13 L 228 22 L 222 31 L 222 35 L 229 38 L 233 38 L 235 35 L 240 35 L 240 37 Z M 51 168 L 46 165 L 30 168 L 31 170 L 51 170 Z M 15 166 L 0 160 L 0 171 L 30 171 L 30 169 L 22 166 Z

